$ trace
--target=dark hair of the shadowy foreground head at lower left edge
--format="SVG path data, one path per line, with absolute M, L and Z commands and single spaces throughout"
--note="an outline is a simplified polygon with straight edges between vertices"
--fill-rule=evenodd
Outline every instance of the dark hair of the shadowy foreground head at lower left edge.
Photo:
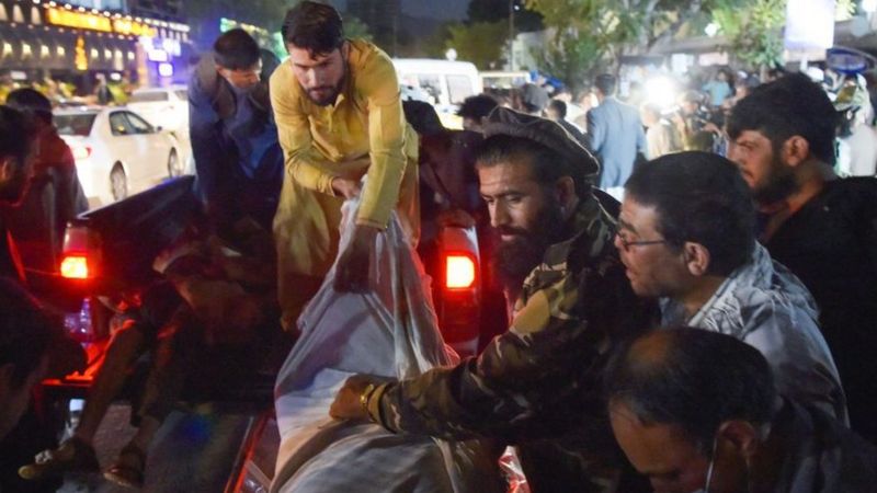
M 57 316 L 13 280 L 0 278 L 0 366 L 12 365 L 13 387 L 24 383 L 61 337 Z

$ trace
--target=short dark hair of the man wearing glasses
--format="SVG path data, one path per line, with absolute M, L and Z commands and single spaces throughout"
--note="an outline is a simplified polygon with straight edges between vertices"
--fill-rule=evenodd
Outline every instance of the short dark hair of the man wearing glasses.
M 709 250 L 707 273 L 727 276 L 755 248 L 755 209 L 737 167 L 710 152 L 662 156 L 634 169 L 625 192 L 654 206 L 658 231 L 668 244 L 686 241 Z

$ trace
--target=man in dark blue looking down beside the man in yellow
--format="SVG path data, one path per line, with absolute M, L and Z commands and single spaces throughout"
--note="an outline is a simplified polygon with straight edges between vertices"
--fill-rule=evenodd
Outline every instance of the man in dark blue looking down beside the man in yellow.
M 189 83 L 189 131 L 198 192 L 227 233 L 249 216 L 269 229 L 280 199 L 283 152 L 267 80 L 276 57 L 243 30 L 219 36 Z

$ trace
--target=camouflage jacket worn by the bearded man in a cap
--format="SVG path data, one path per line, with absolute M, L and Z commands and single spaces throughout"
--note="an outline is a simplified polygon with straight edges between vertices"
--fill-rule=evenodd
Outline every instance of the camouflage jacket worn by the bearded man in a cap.
M 613 345 L 648 328 L 657 311 L 630 289 L 612 244 L 615 221 L 593 197 L 569 228 L 524 282 L 506 333 L 477 358 L 380 386 L 371 417 L 395 433 L 517 445 L 531 481 L 527 461 L 565 469 L 538 475 L 567 488 L 574 481 L 578 491 L 612 477 L 619 462 L 601 370 Z

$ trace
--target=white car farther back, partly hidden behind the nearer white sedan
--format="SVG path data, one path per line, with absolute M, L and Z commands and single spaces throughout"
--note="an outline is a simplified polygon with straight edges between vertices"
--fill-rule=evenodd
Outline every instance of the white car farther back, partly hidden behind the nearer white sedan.
M 127 106 L 152 125 L 178 135 L 189 133 L 189 91 L 185 85 L 137 89 L 128 99 Z

